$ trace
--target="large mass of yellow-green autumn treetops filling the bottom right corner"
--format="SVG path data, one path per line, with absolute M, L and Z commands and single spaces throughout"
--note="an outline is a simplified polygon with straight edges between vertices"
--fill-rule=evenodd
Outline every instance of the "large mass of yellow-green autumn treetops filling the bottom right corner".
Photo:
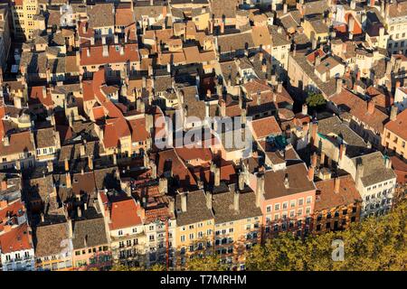
M 248 270 L 395 271 L 407 269 L 407 202 L 380 218 L 364 219 L 351 228 L 296 239 L 280 234 L 248 253 Z M 343 261 L 333 261 L 332 242 L 344 241 Z

